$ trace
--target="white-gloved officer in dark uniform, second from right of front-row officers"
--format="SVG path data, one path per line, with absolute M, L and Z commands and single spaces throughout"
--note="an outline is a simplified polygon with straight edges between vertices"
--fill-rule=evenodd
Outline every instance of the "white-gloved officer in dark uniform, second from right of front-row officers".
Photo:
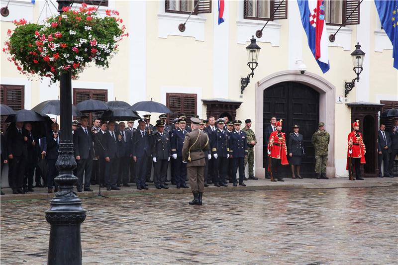
M 229 158 L 228 135 L 224 132 L 224 119 L 219 118 L 216 121 L 217 130 L 210 135 L 211 153 L 214 158 L 214 186 L 228 185 L 224 183 L 227 176 L 227 161 Z

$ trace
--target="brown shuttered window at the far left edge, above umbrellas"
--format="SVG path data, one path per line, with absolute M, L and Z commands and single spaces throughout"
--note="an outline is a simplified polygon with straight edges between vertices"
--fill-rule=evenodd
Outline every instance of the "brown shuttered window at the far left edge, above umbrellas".
M 25 107 L 24 86 L 1 85 L 0 103 L 5 104 L 13 110 L 20 110 Z M 6 116 L 1 116 L 1 131 L 5 132 L 7 125 L 4 123 Z

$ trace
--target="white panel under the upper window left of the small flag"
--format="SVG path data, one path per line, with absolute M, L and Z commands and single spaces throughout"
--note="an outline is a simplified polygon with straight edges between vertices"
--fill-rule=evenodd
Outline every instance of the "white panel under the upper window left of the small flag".
M 194 37 L 197 41 L 204 41 L 204 24 L 206 18 L 201 15 L 191 15 L 186 24 L 184 32 L 178 30 L 178 25 L 184 23 L 188 18 L 187 14 L 159 13 L 159 38 L 166 38 L 169 35 Z

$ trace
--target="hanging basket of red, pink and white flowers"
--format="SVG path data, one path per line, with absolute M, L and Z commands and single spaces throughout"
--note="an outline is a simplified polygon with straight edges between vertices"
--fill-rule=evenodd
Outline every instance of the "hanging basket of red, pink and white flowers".
M 43 25 L 15 20 L 16 28 L 8 29 L 3 52 L 22 74 L 48 77 L 51 83 L 68 71 L 77 79 L 91 62 L 108 68 L 118 43 L 128 33 L 117 11 L 106 10 L 102 18 L 96 9 L 84 3 L 79 10 L 64 7 L 63 13 L 47 18 Z

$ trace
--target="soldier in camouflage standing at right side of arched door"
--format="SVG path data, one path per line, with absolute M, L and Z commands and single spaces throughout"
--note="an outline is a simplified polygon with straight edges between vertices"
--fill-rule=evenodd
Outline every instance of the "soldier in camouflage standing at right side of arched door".
M 312 135 L 311 143 L 315 150 L 315 172 L 316 178 L 326 177 L 326 163 L 327 163 L 327 151 L 330 141 L 330 135 L 325 131 L 325 124 L 319 122 L 318 130 Z

